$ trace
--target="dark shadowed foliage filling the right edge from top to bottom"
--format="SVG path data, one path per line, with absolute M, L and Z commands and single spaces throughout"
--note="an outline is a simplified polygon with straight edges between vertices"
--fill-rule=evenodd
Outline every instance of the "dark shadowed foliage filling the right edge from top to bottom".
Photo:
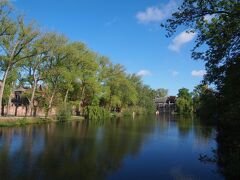
M 162 24 L 168 37 L 182 25 L 188 33 L 196 34 L 192 58 L 203 60 L 207 72 L 203 85 L 195 89 L 193 105 L 199 115 L 217 120 L 219 170 L 227 179 L 239 179 L 240 2 L 184 0 L 172 18 Z

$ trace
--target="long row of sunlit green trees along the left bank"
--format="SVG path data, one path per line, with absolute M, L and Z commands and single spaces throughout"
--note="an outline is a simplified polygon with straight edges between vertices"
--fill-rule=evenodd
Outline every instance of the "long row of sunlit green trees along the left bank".
M 15 115 L 24 106 L 25 116 L 37 116 L 38 109 L 43 109 L 48 118 L 55 108 L 59 120 L 72 112 L 91 119 L 129 109 L 154 112 L 155 91 L 141 77 L 126 73 L 122 65 L 113 64 L 84 43 L 42 32 L 14 13 L 8 1 L 0 1 L 2 116 L 8 115 L 12 103 Z M 17 88 L 22 88 L 21 96 L 15 94 L 12 99 Z

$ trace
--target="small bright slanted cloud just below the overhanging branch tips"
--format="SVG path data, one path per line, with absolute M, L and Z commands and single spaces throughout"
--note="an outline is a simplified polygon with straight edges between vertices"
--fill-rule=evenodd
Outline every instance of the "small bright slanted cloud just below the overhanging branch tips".
M 181 47 L 192 41 L 195 36 L 196 33 L 194 32 L 183 31 L 172 40 L 172 43 L 168 46 L 168 48 L 172 51 L 179 52 Z

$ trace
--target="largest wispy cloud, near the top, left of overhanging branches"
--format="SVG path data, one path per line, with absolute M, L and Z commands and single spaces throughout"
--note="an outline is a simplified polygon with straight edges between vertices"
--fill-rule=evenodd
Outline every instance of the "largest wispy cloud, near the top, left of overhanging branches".
M 175 0 L 170 0 L 167 4 L 159 8 L 157 6 L 148 7 L 145 11 L 137 13 L 136 18 L 140 23 L 160 22 L 169 17 L 177 7 Z

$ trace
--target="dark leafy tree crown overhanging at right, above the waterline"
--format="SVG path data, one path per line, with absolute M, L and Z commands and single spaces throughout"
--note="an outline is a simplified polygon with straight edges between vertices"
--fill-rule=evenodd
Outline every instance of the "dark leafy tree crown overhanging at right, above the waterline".
M 178 11 L 172 14 L 172 18 L 162 25 L 168 31 L 167 36 L 173 35 L 181 25 L 186 26 L 189 33 L 196 34 L 196 45 L 192 57 L 205 61 L 207 70 L 205 83 L 216 86 L 216 90 L 220 93 L 221 104 L 228 104 L 228 107 L 239 107 L 237 102 L 240 101 L 238 96 L 233 97 L 228 94 L 230 90 L 226 90 L 230 87 L 226 85 L 229 79 L 234 80 L 231 84 L 240 84 L 240 78 L 228 78 L 228 76 L 234 76 L 232 73 L 236 72 L 229 69 L 239 67 L 237 65 L 240 57 L 239 17 L 240 2 L 238 0 L 184 0 Z M 239 90 L 238 87 L 232 89 L 234 94 Z M 229 99 L 230 97 L 232 100 Z M 240 109 L 234 111 L 240 112 Z

